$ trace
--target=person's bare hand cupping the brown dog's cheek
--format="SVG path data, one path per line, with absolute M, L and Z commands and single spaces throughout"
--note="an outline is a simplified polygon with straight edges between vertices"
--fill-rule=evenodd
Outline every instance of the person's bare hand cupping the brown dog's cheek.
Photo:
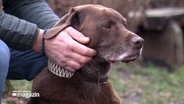
M 45 54 L 63 68 L 76 71 L 96 55 L 95 50 L 83 45 L 89 41 L 88 37 L 68 27 L 54 38 L 45 40 Z

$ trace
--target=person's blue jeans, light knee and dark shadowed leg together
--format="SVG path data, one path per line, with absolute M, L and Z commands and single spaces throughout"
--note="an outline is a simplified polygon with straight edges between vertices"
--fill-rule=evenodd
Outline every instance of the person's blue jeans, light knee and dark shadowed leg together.
M 6 79 L 32 80 L 47 66 L 47 57 L 33 51 L 9 49 L 0 40 L 0 100 Z

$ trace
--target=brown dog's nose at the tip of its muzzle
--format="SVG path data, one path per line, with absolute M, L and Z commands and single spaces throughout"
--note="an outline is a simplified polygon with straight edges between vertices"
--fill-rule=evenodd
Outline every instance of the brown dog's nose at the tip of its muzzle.
M 132 38 L 132 43 L 136 48 L 141 49 L 143 47 L 143 44 L 144 44 L 144 39 L 142 39 L 139 36 L 136 36 L 136 37 Z

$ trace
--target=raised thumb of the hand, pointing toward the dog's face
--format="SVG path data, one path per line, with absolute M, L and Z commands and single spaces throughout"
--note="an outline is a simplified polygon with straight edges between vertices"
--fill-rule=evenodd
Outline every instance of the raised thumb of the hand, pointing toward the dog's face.
M 84 36 L 82 33 L 72 27 L 68 27 L 65 30 L 74 40 L 78 41 L 79 43 L 87 44 L 90 41 L 89 37 Z

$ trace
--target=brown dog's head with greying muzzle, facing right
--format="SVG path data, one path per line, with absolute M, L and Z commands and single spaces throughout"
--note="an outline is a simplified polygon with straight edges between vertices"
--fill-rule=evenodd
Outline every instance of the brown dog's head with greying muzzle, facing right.
M 126 29 L 126 19 L 114 9 L 101 5 L 74 7 L 56 26 L 72 26 L 89 37 L 90 43 L 87 46 L 98 52 L 94 60 L 100 67 L 116 61 L 134 61 L 142 51 L 144 40 Z M 93 67 L 85 68 L 88 74 L 108 72 L 94 69 L 94 65 L 87 66 Z

